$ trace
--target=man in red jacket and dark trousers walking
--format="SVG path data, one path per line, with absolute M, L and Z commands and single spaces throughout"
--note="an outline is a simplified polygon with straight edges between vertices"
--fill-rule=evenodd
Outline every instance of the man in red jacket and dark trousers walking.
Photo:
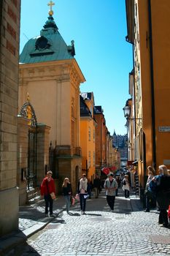
M 55 184 L 52 178 L 52 171 L 47 172 L 47 176 L 43 179 L 41 184 L 41 195 L 45 198 L 45 217 L 48 216 L 48 207 L 50 206 L 50 217 L 55 217 L 53 214 L 53 199 L 51 193 L 55 194 Z

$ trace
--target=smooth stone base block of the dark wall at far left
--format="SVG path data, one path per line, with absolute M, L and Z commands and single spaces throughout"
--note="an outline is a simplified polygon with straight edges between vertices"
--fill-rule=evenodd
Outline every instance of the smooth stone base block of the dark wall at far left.
M 0 236 L 18 230 L 19 193 L 17 187 L 0 191 Z

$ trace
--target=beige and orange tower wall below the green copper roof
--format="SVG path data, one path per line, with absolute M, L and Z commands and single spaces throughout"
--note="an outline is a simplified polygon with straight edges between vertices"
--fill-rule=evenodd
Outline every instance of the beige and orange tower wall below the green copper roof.
M 71 73 L 66 64 L 72 65 Z M 37 122 L 51 127 L 50 140 L 53 145 L 68 146 L 72 144 L 73 108 L 74 146 L 79 147 L 80 82 L 83 82 L 83 77 L 75 60 L 20 64 L 18 112 L 26 102 L 28 93 Z

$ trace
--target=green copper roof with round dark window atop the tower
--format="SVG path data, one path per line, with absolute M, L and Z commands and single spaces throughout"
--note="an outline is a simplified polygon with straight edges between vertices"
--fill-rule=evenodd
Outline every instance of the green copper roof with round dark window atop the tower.
M 49 15 L 40 36 L 29 39 L 20 54 L 20 63 L 37 63 L 73 59 L 75 55 L 74 41 L 66 45 L 58 32 L 52 15 Z

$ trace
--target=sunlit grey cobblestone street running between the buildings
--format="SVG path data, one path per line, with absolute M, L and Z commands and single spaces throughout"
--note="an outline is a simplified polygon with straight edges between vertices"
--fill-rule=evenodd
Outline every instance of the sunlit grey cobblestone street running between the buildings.
M 158 212 L 144 213 L 134 195 L 116 197 L 109 211 L 104 192 L 87 201 L 86 215 L 77 203 L 71 213 L 63 211 L 43 230 L 18 246 L 15 255 L 120 256 L 170 255 L 170 230 L 158 226 Z

